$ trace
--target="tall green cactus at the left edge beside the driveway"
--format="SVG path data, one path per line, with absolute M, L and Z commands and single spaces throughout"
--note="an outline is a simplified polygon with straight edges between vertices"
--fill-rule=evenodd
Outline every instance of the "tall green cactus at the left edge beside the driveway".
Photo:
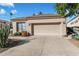
M 9 33 L 10 33 L 10 27 L 7 25 L 3 26 L 3 28 L 0 29 L 0 47 L 1 48 L 6 47 Z

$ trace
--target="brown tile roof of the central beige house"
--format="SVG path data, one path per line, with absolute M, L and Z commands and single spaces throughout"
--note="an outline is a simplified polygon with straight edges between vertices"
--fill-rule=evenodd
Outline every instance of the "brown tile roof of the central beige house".
M 52 19 L 52 18 L 64 18 L 58 14 L 42 14 L 42 15 L 35 15 L 30 17 L 21 17 L 21 18 L 14 18 L 12 21 L 27 21 L 27 20 L 35 20 L 35 19 Z

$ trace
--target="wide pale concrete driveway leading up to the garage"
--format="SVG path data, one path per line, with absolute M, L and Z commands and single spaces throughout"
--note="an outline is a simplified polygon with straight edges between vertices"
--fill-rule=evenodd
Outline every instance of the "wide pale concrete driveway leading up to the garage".
M 77 56 L 79 48 L 63 37 L 33 36 L 23 45 L 13 47 L 0 55 L 2 56 Z M 29 39 L 29 38 L 28 38 Z M 33 39 L 33 40 L 32 40 Z M 26 39 L 27 40 L 27 39 Z

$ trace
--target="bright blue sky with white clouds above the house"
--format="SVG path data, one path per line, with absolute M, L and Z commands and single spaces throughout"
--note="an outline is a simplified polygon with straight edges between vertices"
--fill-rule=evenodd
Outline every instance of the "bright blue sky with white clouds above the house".
M 12 11 L 14 15 L 10 17 L 9 13 Z M 10 18 L 27 17 L 40 11 L 44 14 L 56 14 L 55 3 L 0 4 L 0 19 L 9 20 Z

